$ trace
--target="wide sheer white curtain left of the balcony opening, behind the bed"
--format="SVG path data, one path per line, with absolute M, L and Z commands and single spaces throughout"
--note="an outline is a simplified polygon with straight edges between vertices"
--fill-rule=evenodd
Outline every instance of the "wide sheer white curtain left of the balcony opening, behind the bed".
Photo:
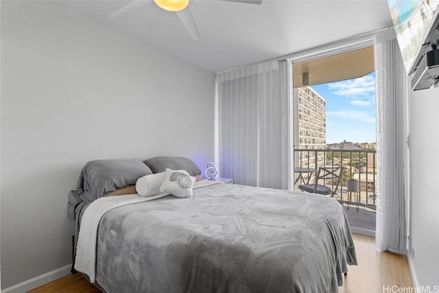
M 287 61 L 217 74 L 219 176 L 288 188 Z

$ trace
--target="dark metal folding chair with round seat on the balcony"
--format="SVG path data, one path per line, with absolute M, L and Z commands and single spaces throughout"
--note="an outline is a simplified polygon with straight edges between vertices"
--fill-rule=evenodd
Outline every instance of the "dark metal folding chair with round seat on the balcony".
M 299 185 L 301 191 L 307 191 L 311 194 L 323 194 L 325 196 L 334 197 L 342 180 L 342 166 L 319 167 L 317 172 L 316 183 Z M 331 182 L 331 185 L 323 185 Z M 322 184 L 319 184 L 322 183 Z

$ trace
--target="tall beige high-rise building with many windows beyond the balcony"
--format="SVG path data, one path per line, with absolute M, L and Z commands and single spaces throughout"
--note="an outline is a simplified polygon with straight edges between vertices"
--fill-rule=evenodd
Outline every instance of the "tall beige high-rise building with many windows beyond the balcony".
M 326 102 L 310 86 L 298 88 L 298 139 L 302 150 L 324 150 L 327 148 Z M 317 161 L 316 161 L 317 160 Z M 314 152 L 301 152 L 302 167 L 324 165 L 324 153 L 318 158 Z

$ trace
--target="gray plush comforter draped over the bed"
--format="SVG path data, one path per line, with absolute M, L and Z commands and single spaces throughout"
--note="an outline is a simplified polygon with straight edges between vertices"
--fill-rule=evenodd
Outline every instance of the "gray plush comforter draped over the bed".
M 107 292 L 337 292 L 357 264 L 333 198 L 242 185 L 113 209 L 97 236 Z

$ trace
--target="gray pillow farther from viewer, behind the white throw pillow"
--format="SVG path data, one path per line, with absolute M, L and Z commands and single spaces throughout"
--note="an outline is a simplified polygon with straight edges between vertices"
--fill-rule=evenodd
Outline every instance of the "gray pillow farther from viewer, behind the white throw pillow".
M 143 161 L 154 173 L 166 172 L 166 169 L 186 170 L 189 175 L 200 175 L 201 170 L 197 164 L 182 156 L 155 156 Z

